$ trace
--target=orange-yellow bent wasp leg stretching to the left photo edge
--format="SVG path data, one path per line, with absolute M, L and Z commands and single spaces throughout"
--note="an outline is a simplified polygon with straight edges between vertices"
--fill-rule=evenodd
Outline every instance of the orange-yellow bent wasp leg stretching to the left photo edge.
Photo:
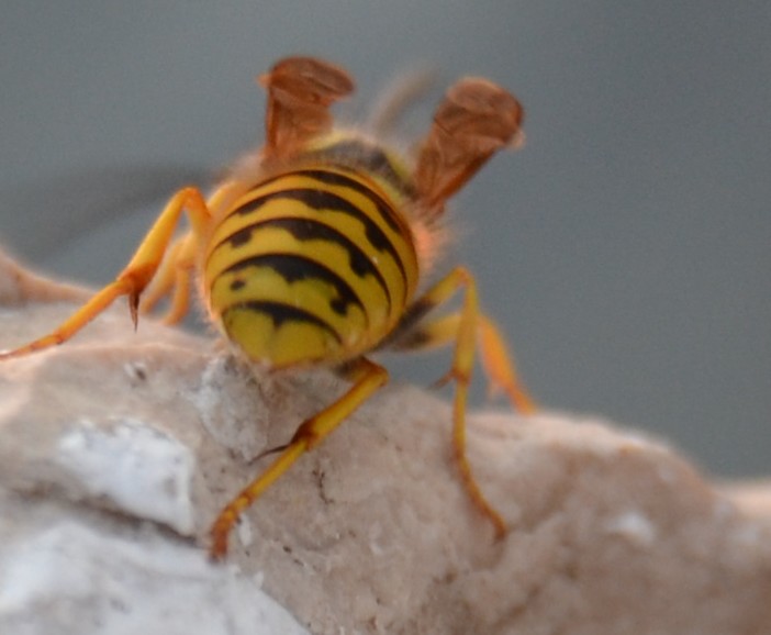
M 98 291 L 86 304 L 49 334 L 14 350 L 0 353 L 0 359 L 21 357 L 22 355 L 29 355 L 35 350 L 67 342 L 121 296 L 128 297 L 128 309 L 134 326 L 136 326 L 139 296 L 155 277 L 182 211 L 188 212 L 192 226 L 191 235 L 194 236 L 194 239 L 199 239 L 203 235 L 211 214 L 201 192 L 194 188 L 186 188 L 178 191 L 167 203 L 139 244 L 128 265 L 118 278 Z

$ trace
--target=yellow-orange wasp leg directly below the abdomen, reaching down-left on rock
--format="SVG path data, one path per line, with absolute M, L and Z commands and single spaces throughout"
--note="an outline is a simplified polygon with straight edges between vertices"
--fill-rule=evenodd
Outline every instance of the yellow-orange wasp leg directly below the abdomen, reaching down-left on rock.
M 227 553 L 227 535 L 242 512 L 252 505 L 295 460 L 319 445 L 382 387 L 388 381 L 388 371 L 382 366 L 362 357 L 346 368 L 346 377 L 354 381 L 348 392 L 319 414 L 305 420 L 268 469 L 220 512 L 210 532 L 212 539 L 210 555 L 213 559 L 220 559 Z

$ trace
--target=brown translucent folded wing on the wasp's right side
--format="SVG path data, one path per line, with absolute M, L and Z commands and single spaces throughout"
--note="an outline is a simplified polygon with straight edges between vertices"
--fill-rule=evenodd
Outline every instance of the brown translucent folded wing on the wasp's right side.
M 519 142 L 523 116 L 519 102 L 487 79 L 454 85 L 418 149 L 415 186 L 426 213 L 440 214 L 445 201 L 496 151 Z

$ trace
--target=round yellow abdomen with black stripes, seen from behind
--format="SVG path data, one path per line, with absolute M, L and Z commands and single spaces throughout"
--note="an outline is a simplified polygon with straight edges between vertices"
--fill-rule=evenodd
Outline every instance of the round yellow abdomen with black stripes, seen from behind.
M 417 285 L 410 229 L 354 170 L 313 167 L 250 189 L 215 229 L 203 268 L 213 318 L 254 360 L 338 363 L 373 348 Z

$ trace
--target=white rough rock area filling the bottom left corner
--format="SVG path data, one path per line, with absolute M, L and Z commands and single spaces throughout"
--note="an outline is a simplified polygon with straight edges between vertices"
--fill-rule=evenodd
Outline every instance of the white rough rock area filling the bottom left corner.
M 258 577 L 234 576 L 148 532 L 122 535 L 70 517 L 72 510 L 52 512 L 48 526 L 3 550 L 2 633 L 308 633 Z

